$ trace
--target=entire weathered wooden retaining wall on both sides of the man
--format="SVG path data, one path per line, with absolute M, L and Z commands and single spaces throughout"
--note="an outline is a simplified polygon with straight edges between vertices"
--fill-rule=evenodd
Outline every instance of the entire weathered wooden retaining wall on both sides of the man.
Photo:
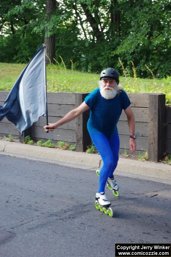
M 0 91 L 0 105 L 3 105 L 8 91 Z M 48 93 L 48 122 L 55 122 L 67 112 L 79 106 L 87 93 Z M 171 154 L 171 109 L 165 107 L 165 95 L 128 93 L 132 110 L 136 121 L 136 143 L 138 154 L 148 151 L 149 160 L 156 161 L 162 158 L 164 152 Z M 87 132 L 87 120 L 89 111 L 84 112 L 77 119 L 62 125 L 54 132 L 45 133 L 43 126 L 46 124 L 46 117 L 40 117 L 35 122 L 30 134 L 33 139 L 53 141 L 66 141 L 77 145 L 77 151 L 85 151 L 86 145 L 90 144 L 90 137 Z M 166 118 L 165 118 L 166 117 Z M 120 135 L 120 152 L 129 150 L 129 128 L 127 116 L 122 112 L 118 122 Z M 0 122 L 0 134 L 12 134 L 18 136 L 18 130 L 10 124 L 6 118 Z M 166 137 L 165 137 L 166 135 Z

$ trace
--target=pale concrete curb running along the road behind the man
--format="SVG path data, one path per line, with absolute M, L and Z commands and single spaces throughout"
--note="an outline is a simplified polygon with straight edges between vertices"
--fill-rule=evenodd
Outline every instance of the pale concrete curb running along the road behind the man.
M 12 153 L 16 156 L 19 155 L 19 157 L 23 157 L 24 155 L 24 157 L 26 156 L 27 158 L 46 159 L 49 160 L 49 162 L 58 161 L 66 166 L 70 166 L 69 164 L 86 166 L 87 169 L 92 170 L 100 169 L 103 164 L 100 155 L 25 145 L 2 140 L 0 140 L 0 151 L 4 152 L 4 154 L 9 153 L 10 155 L 10 153 Z M 127 175 L 134 174 L 143 177 L 165 179 L 169 181 L 169 184 L 171 182 L 171 166 L 167 164 L 120 158 L 115 173 L 121 175 L 120 171 Z

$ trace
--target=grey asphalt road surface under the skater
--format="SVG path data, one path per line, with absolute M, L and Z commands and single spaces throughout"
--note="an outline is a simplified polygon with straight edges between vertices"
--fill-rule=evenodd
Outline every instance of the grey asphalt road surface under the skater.
M 171 242 L 171 186 L 117 176 L 114 217 L 95 172 L 0 155 L 0 257 L 114 257 L 115 243 Z

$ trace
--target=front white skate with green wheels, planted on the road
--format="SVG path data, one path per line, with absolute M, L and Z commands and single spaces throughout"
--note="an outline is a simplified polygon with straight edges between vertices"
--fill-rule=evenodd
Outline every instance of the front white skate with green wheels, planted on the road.
M 110 217 L 113 216 L 113 210 L 109 206 L 111 203 L 107 199 L 105 192 L 96 194 L 95 207 L 97 210 L 104 212 L 105 214 L 109 214 Z

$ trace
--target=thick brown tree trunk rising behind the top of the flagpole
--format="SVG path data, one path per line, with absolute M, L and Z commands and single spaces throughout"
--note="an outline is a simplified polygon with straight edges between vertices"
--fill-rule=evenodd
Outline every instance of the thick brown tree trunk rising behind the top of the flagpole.
M 46 15 L 48 20 L 51 19 L 51 14 L 56 9 L 56 0 L 47 0 L 46 3 Z M 48 58 L 46 58 L 46 63 L 55 63 L 55 34 L 47 37 L 46 32 L 48 29 L 45 30 L 45 39 L 44 44 L 46 45 L 46 55 Z

